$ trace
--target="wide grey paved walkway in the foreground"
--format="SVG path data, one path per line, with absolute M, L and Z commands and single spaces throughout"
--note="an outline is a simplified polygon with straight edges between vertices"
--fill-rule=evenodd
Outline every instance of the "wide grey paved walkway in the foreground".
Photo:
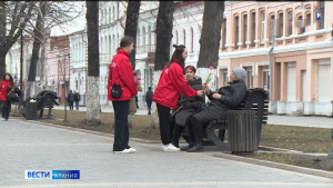
M 163 152 L 130 142 L 135 154 L 112 154 L 112 138 L 27 122 L 0 121 L 0 188 L 319 188 L 333 180 L 212 157 Z M 79 180 L 26 180 L 24 170 L 80 170 Z

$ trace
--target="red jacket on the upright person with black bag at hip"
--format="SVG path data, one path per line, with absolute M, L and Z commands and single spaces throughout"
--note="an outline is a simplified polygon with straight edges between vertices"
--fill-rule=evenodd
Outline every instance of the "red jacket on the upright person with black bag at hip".
M 112 76 L 112 78 L 111 78 Z M 129 53 L 124 50 L 118 50 L 118 53 L 113 57 L 109 66 L 108 77 L 108 100 L 111 101 L 123 101 L 130 100 L 132 96 L 138 93 L 137 85 L 134 82 L 133 68 L 131 66 Z M 123 88 L 121 97 L 113 99 L 111 97 L 111 80 L 112 85 L 118 83 Z

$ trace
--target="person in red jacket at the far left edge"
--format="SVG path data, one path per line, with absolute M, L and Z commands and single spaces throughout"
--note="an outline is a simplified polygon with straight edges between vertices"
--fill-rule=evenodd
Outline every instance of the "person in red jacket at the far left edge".
M 13 79 L 10 73 L 4 73 L 2 77 L 2 81 L 0 82 L 0 102 L 1 102 L 1 110 L 2 110 L 2 121 L 8 121 L 11 101 L 7 101 L 7 90 L 8 88 L 12 87 Z M 13 90 L 14 91 L 14 90 Z

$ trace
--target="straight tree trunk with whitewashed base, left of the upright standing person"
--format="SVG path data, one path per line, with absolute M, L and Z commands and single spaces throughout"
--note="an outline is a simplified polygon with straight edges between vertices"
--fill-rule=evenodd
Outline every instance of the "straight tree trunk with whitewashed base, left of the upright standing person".
M 99 1 L 87 2 L 88 29 L 88 90 L 87 121 L 99 126 L 100 120 L 100 58 L 99 58 Z M 98 96 L 98 97 L 97 97 Z

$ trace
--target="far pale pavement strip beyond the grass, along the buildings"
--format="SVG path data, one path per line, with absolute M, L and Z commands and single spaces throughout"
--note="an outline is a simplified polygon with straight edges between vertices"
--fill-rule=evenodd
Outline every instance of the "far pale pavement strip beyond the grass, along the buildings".
M 64 110 L 64 107 L 56 106 L 54 109 Z M 79 111 L 87 111 L 87 107 L 80 107 Z M 102 112 L 113 112 L 112 106 L 102 107 Z M 147 115 L 147 113 L 148 110 L 138 110 L 135 115 Z M 329 118 L 329 117 L 289 117 L 289 116 L 269 115 L 268 123 L 333 129 L 333 118 Z

